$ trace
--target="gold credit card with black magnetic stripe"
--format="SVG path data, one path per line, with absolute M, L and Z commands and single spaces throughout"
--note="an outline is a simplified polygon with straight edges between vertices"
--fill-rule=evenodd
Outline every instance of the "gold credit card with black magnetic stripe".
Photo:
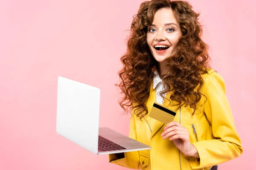
M 154 103 L 150 113 L 148 114 L 149 117 L 163 122 L 164 124 L 172 122 L 175 115 L 175 111 L 172 111 L 171 109 L 166 108 L 165 106 L 158 103 Z

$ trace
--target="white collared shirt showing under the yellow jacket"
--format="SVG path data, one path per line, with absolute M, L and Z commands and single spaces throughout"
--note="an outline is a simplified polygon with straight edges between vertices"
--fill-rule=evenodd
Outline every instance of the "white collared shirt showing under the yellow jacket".
M 163 104 L 163 98 L 158 94 L 159 92 L 163 91 L 163 82 L 162 79 L 159 76 L 158 71 L 155 71 L 154 74 L 156 75 L 153 79 L 153 89 L 156 88 L 157 93 L 157 103 L 162 105 Z M 166 93 L 164 94 L 164 97 L 166 96 Z

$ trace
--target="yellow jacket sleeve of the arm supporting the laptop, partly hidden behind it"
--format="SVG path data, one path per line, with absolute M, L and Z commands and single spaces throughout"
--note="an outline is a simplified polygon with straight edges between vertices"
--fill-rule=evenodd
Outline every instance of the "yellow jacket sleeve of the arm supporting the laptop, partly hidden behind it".
M 137 140 L 134 115 L 131 115 L 131 118 L 130 118 L 129 137 Z M 125 157 L 122 159 L 118 159 L 116 154 L 109 154 L 109 162 L 123 166 L 123 167 L 131 168 L 131 169 L 140 169 L 139 168 L 139 164 L 140 164 L 139 151 L 125 152 L 124 154 L 125 154 Z

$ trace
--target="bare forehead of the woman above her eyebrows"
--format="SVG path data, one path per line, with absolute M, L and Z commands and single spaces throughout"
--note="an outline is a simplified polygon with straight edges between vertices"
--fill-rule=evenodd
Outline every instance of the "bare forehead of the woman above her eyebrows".
M 179 24 L 175 18 L 172 8 L 161 8 L 154 14 L 153 23 L 156 26 L 162 26 L 165 23 Z

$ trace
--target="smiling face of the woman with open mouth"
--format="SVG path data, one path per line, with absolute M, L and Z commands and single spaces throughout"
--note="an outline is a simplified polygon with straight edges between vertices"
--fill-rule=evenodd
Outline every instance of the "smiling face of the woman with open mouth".
M 172 9 L 157 10 L 147 32 L 147 44 L 157 62 L 162 62 L 174 54 L 181 36 L 179 23 Z

